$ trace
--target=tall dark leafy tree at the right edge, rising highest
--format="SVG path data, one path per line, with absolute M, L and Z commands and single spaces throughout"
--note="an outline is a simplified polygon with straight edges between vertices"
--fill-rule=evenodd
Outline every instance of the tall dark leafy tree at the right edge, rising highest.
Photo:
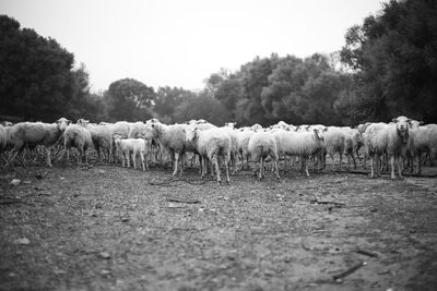
M 367 119 L 437 121 L 436 14 L 433 1 L 392 0 L 346 32 L 341 59 L 355 70 L 355 108 Z

